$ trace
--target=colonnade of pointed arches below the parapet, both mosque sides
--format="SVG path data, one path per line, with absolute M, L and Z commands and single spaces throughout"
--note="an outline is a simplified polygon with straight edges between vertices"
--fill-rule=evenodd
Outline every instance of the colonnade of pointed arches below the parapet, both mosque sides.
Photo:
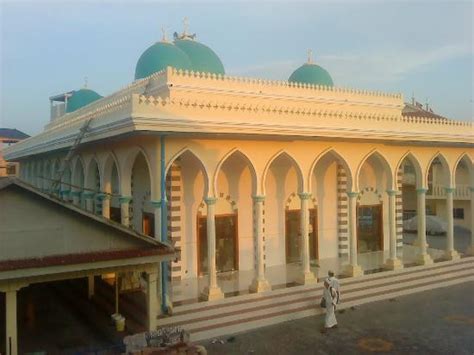
M 76 155 L 64 168 L 61 184 L 55 185 L 57 191 L 48 190 L 59 178 L 60 157 L 23 162 L 21 177 L 105 218 L 159 236 L 159 145 L 153 142 L 110 148 Z M 209 299 L 222 297 L 217 272 L 241 269 L 242 265 L 255 270 L 250 288 L 256 292 L 270 287 L 265 267 L 284 263 L 285 259 L 299 259 L 301 283 L 316 282 L 310 270 L 312 258 L 334 255 L 347 256 L 346 272 L 360 275 L 357 257 L 364 248 L 388 250 L 387 267 L 402 267 L 398 199 L 406 165 L 411 166 L 415 180 L 419 262 L 431 263 L 425 210 L 433 166 L 444 188 L 447 211 L 453 209 L 460 167 L 467 170 L 471 192 L 474 187 L 472 156 L 460 149 L 371 144 L 311 147 L 282 142 L 261 148 L 252 142 L 232 147 L 232 142 L 179 140 L 166 146 L 163 186 L 167 233 L 182 252 L 173 270 L 178 270 L 180 277 L 184 271 L 191 275 L 208 273 L 205 293 Z M 365 213 L 367 217 L 380 214 L 380 240 L 364 239 L 361 224 Z M 451 212 L 447 212 L 446 220 L 446 257 L 453 259 L 459 256 L 454 250 Z M 473 220 L 471 217 L 471 228 Z M 226 236 L 233 226 L 238 226 L 237 241 Z M 285 240 L 284 235 L 294 236 Z

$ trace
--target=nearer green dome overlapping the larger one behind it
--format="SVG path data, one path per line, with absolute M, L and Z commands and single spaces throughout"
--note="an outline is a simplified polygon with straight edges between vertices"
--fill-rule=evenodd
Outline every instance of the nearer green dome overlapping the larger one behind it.
M 145 78 L 166 67 L 191 70 L 191 61 L 186 53 L 172 43 L 157 42 L 138 59 L 135 80 Z

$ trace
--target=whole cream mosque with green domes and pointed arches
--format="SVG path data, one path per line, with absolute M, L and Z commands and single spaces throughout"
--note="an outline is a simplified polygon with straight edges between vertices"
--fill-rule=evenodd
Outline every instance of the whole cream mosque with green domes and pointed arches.
M 187 29 L 137 57 L 111 95 L 51 97 L 44 131 L 4 155 L 23 182 L 172 244 L 165 308 L 473 251 L 454 235 L 473 230 L 471 122 L 338 87 L 311 54 L 287 81 L 228 76 Z M 427 214 L 446 222 L 442 249 Z

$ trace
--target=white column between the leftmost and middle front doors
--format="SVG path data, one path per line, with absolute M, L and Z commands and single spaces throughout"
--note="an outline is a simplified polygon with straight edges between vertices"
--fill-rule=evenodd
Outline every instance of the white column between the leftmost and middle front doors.
M 272 287 L 265 279 L 265 263 L 264 263 L 264 252 L 263 252 L 263 201 L 265 196 L 253 196 L 254 208 L 255 208 L 255 243 L 256 243 L 256 257 L 257 257 L 257 270 L 255 278 L 250 285 L 250 292 L 265 292 L 271 291 Z

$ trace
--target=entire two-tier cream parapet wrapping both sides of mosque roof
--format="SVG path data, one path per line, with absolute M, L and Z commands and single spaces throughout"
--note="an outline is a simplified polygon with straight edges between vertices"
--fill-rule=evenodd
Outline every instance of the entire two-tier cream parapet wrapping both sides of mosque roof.
M 90 118 L 84 141 L 146 129 L 472 144 L 472 123 L 403 117 L 403 105 L 401 94 L 168 67 L 54 120 L 5 155 L 17 159 L 71 146 Z

